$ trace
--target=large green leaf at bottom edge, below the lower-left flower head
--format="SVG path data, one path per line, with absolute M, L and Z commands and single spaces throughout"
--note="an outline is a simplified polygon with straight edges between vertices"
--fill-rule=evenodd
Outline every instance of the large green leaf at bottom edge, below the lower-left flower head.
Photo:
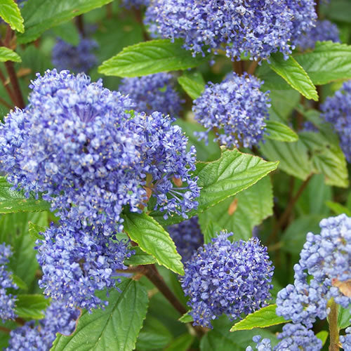
M 147 312 L 147 291 L 126 279 L 110 292 L 104 310 L 84 310 L 71 336 L 58 334 L 52 351 L 133 350 Z

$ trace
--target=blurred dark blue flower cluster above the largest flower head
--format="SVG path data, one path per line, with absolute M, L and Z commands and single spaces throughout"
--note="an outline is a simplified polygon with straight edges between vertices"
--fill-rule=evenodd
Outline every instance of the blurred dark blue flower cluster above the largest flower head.
M 93 39 L 81 37 L 77 46 L 58 39 L 51 54 L 53 65 L 59 71 L 70 69 L 75 73 L 87 73 L 98 64 L 98 60 L 93 53 L 98 47 L 98 43 Z

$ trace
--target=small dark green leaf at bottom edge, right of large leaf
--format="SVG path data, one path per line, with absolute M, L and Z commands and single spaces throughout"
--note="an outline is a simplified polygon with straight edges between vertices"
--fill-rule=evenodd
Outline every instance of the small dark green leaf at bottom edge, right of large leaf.
M 173 336 L 158 319 L 147 315 L 136 343 L 137 350 L 159 350 L 171 343 Z

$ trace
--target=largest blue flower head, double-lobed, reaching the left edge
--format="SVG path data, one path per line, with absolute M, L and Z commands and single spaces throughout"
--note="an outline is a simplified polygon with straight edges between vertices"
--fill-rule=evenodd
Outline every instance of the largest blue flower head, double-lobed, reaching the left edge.
M 186 218 L 197 206 L 196 150 L 187 152 L 171 117 L 131 114 L 130 98 L 85 74 L 53 69 L 30 87 L 28 107 L 0 125 L 1 171 L 14 187 L 43 193 L 61 218 L 103 224 L 107 235 L 123 229 L 124 206 L 140 211 L 145 185 L 165 216 Z

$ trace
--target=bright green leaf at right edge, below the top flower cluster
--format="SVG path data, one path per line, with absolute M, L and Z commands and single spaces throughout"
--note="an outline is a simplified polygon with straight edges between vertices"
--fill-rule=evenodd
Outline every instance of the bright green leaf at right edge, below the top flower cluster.
M 316 85 L 351 78 L 350 45 L 317 41 L 314 51 L 296 55 L 295 58 Z

